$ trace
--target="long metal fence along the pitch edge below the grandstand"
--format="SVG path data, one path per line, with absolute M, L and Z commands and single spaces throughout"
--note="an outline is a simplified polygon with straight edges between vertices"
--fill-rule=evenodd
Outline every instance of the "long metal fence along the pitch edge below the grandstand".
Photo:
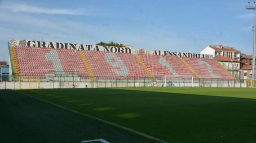
M 118 87 L 247 87 L 243 80 L 193 77 L 2 76 L 0 89 Z

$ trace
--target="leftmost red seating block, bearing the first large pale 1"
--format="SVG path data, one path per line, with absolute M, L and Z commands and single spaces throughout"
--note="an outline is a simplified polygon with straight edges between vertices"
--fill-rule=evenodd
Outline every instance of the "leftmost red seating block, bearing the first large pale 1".
M 16 47 L 20 74 L 23 76 L 75 75 L 88 73 L 75 50 Z

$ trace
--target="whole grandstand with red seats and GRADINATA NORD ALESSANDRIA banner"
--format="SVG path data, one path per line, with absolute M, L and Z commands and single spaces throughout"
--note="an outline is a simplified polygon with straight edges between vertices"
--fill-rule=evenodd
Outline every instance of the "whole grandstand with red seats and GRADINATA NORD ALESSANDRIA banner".
M 56 87 L 66 88 L 101 87 L 98 83 L 104 82 L 105 87 L 107 83 L 110 87 L 113 83 L 116 87 L 226 87 L 238 83 L 212 55 L 206 54 L 10 39 L 9 55 L 12 80 L 38 82 L 37 88 L 41 82 L 57 82 Z

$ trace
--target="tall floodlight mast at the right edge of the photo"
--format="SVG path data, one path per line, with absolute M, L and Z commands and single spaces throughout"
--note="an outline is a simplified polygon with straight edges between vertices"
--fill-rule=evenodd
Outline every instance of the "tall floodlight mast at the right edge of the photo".
M 255 42 L 256 42 L 256 3 L 255 2 L 248 2 L 246 5 L 246 9 L 255 10 L 254 14 L 254 26 L 253 26 L 253 50 L 252 50 L 252 80 L 255 80 Z

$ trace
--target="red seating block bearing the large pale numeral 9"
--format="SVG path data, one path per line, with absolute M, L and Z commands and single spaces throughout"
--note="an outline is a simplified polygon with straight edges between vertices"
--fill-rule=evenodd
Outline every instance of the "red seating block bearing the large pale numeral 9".
M 147 76 L 133 54 L 84 50 L 94 76 Z

